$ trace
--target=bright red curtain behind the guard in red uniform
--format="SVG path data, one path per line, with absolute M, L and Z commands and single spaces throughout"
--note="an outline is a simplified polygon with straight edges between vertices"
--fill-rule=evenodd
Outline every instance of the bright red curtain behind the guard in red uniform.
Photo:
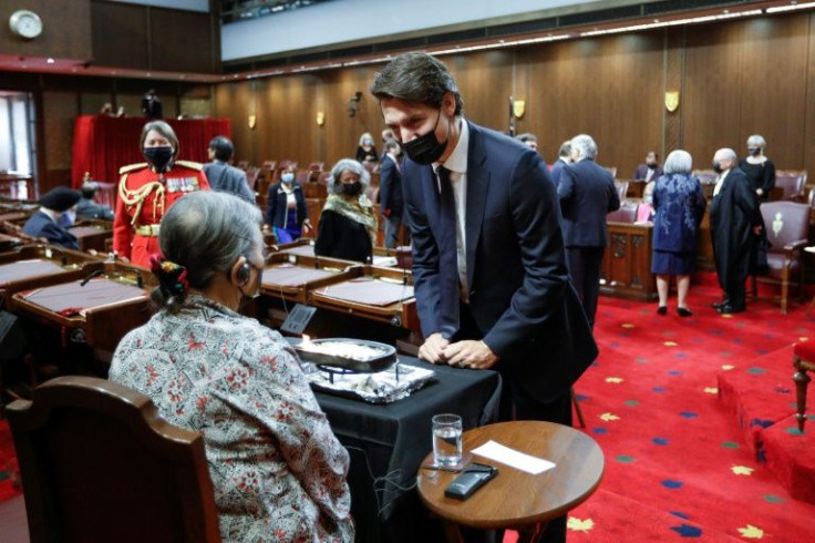
M 144 117 L 83 115 L 73 130 L 73 186 L 82 185 L 85 172 L 91 178 L 109 183 L 118 181 L 118 168 L 145 162 L 138 148 Z M 207 162 L 207 145 L 216 135 L 231 137 L 228 119 L 166 120 L 178 136 L 179 160 Z

